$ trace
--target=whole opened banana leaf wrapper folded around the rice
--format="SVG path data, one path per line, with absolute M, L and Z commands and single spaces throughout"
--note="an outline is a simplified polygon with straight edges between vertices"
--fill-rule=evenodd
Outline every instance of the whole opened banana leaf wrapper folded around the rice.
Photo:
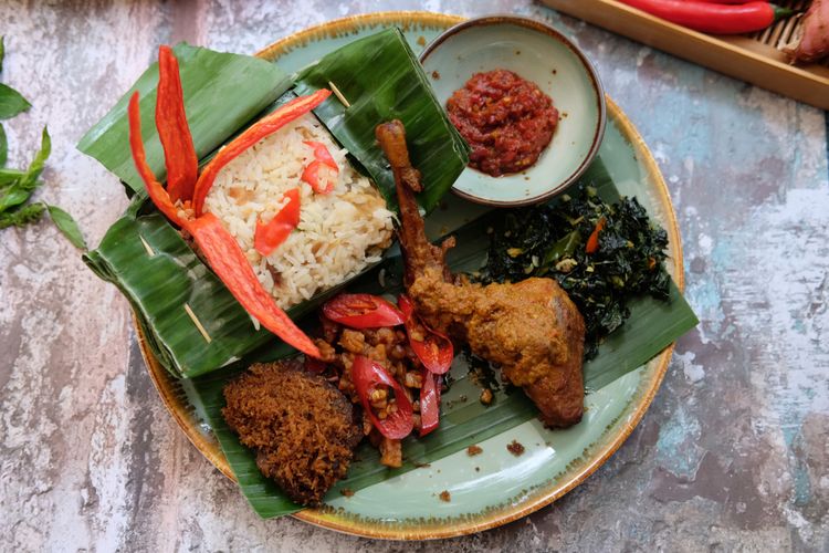
M 396 66 L 395 83 L 417 85 L 385 88 L 379 101 L 372 87 L 360 81 L 359 93 L 349 88 L 355 104 L 365 106 L 377 101 L 384 109 L 370 113 L 356 109 L 359 116 L 346 121 L 334 117 L 336 128 L 339 135 L 348 138 L 343 144 L 349 150 L 351 161 L 358 168 L 372 168 L 369 176 L 384 175 L 387 179 L 391 178 L 390 171 L 386 167 L 380 170 L 376 159 L 382 154 L 375 145 L 375 126 L 386 121 L 381 117 L 401 116 L 412 128 L 423 129 L 428 140 L 413 144 L 411 152 L 422 160 L 424 171 L 441 176 L 427 184 L 426 195 L 433 198 L 430 205 L 437 205 L 437 199 L 449 190 L 465 167 L 466 145 L 434 100 L 420 64 L 399 31 L 381 32 L 369 39 L 375 48 L 380 49 L 372 58 L 374 63 Z M 315 66 L 332 66 L 333 60 L 338 71 L 342 71 L 339 65 L 345 64 L 354 73 L 367 72 L 369 67 L 361 58 L 363 49 L 349 46 L 328 54 Z M 256 115 L 294 97 L 294 91 L 288 91 L 293 81 L 269 62 L 187 44 L 179 44 L 174 50 L 179 59 L 188 122 L 202 164 Z M 333 72 L 328 80 L 339 76 Z M 288 352 L 291 349 L 270 332 L 254 330 L 248 313 L 224 285 L 193 254 L 169 222 L 146 202 L 144 185 L 128 147 L 126 103 L 133 91 L 139 91 L 147 160 L 156 176 L 162 179 L 164 153 L 155 127 L 157 82 L 158 64 L 153 64 L 78 144 L 82 152 L 109 168 L 132 192 L 138 192 L 127 212 L 107 231 L 99 247 L 84 255 L 84 260 L 96 274 L 114 283 L 127 296 L 153 353 L 177 377 L 217 371 L 240 358 L 267 359 Z M 240 82 L 245 85 L 239 86 Z M 297 87 L 295 92 L 304 94 L 304 91 Z M 342 104 L 330 98 L 321 107 L 324 107 L 321 113 L 325 115 Z M 329 117 L 321 116 L 321 121 L 329 128 L 335 125 Z M 337 133 L 333 134 L 337 137 Z M 393 179 L 391 187 L 393 195 Z M 385 195 L 388 199 L 388 189 Z M 150 257 L 148 250 L 158 255 Z M 139 259 L 141 262 L 136 262 Z M 288 310 L 288 315 L 298 317 L 313 311 L 347 284 L 344 282 L 316 294 Z M 207 331 L 209 342 L 185 306 Z

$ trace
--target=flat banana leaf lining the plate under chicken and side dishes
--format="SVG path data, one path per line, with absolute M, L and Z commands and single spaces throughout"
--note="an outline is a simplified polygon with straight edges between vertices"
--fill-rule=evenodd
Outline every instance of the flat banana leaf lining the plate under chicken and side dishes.
M 619 192 L 600 158 L 587 170 L 581 181 L 594 186 L 605 201 L 619 199 Z M 450 250 L 447 258 L 453 271 L 474 272 L 485 263 L 490 240 L 486 229 L 496 218 L 503 217 L 504 212 L 490 211 L 453 232 L 458 246 Z M 348 290 L 396 295 L 401 291 L 402 269 L 400 255 L 389 255 L 381 267 L 355 280 Z M 378 278 L 379 271 L 384 272 L 382 279 Z M 585 363 L 585 388 L 588 393 L 639 368 L 697 324 L 696 316 L 673 283 L 668 302 L 642 296 L 633 301 L 630 307 L 630 319 L 608 336 L 595 358 Z M 280 353 L 274 358 L 279 355 Z M 328 498 L 336 498 L 344 488 L 357 491 L 413 470 L 422 463 L 437 461 L 537 416 L 536 407 L 516 388 L 495 389 L 495 400 L 490 407 L 484 407 L 476 400 L 461 400 L 462 396 L 474 398 L 480 393 L 480 388 L 468 378 L 473 363 L 474 359 L 464 356 L 455 358 L 451 372 L 454 382 L 443 396 L 440 427 L 426 438 L 410 437 L 403 441 L 405 462 L 401 468 L 388 469 L 381 466 L 378 451 L 369 444 L 363 444 L 356 452 L 358 460 L 351 463 L 347 479 L 338 482 L 328 492 Z M 188 397 L 212 428 L 240 489 L 256 513 L 271 518 L 296 512 L 301 508 L 262 476 L 256 467 L 255 455 L 239 442 L 221 416 L 221 408 L 224 406 L 222 387 L 242 369 L 243 366 L 240 365 L 232 372 L 213 373 L 185 383 Z

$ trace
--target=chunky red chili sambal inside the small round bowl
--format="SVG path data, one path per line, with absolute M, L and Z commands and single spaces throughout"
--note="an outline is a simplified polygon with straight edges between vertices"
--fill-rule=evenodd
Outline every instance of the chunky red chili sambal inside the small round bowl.
M 493 177 L 535 164 L 558 124 L 553 100 L 507 70 L 472 75 L 447 111 L 472 147 L 470 166 Z

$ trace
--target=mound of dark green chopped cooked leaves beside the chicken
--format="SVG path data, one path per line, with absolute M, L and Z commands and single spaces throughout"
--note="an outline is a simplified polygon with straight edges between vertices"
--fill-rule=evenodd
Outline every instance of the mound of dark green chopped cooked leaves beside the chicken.
M 601 219 L 598 249 L 588 253 Z M 663 261 L 668 233 L 636 198 L 607 204 L 591 187 L 579 187 L 553 205 L 507 213 L 494 228 L 485 280 L 552 276 L 585 317 L 585 355 L 630 316 L 628 302 L 650 294 L 668 300 L 670 276 Z

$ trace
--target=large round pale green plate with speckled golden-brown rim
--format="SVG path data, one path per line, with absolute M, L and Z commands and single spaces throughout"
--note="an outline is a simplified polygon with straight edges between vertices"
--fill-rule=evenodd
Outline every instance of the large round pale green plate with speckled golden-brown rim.
M 298 69 L 357 36 L 389 25 L 400 27 L 416 51 L 461 21 L 452 15 L 423 12 L 374 13 L 325 23 L 281 40 L 258 55 L 279 61 L 287 71 Z M 618 106 L 609 98 L 608 125 L 599 157 L 622 194 L 636 195 L 669 233 L 668 270 L 683 288 L 682 251 L 668 190 L 648 148 Z M 452 217 L 468 216 L 453 198 Z M 442 215 L 449 217 L 449 215 Z M 139 331 L 140 334 L 140 331 Z M 139 342 L 143 345 L 143 336 Z M 209 429 L 200 424 L 180 383 L 169 376 L 141 347 L 170 414 L 193 445 L 229 478 L 232 472 Z M 431 539 L 468 534 L 524 517 L 578 486 L 604 463 L 639 422 L 659 387 L 672 347 L 648 365 L 587 396 L 581 424 L 549 431 L 526 422 L 480 446 L 483 453 L 458 452 L 421 468 L 339 498 L 319 510 L 295 514 L 301 520 L 351 534 L 387 539 Z M 526 452 L 514 457 L 506 445 L 518 440 Z M 442 491 L 451 501 L 438 499 Z

